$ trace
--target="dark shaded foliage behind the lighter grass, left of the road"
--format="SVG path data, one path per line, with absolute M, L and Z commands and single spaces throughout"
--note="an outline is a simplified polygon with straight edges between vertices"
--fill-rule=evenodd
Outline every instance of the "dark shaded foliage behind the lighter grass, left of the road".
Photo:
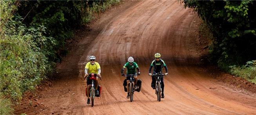
M 45 50 L 48 51 L 47 58 L 50 61 L 58 62 L 61 61 L 61 52 L 66 52 L 63 51 L 65 50 L 65 41 L 73 37 L 73 29 L 89 23 L 94 19 L 94 13 L 100 13 L 116 3 L 119 3 L 119 0 L 21 1 L 15 16 L 23 17 L 21 22 L 27 26 L 35 27 L 36 30 L 44 29 L 42 33 L 45 37 L 51 37 L 47 39 L 54 41 L 54 43 L 49 42 L 44 45 L 44 47 L 48 47 L 45 49 L 49 49 Z

